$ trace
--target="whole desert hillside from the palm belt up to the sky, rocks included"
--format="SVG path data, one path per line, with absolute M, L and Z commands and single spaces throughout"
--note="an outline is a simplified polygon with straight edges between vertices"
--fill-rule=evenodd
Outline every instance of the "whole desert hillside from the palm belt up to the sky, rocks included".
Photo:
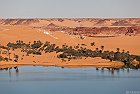
M 15 42 L 16 40 L 23 40 L 25 42 L 41 40 L 43 42 L 50 41 L 59 46 L 65 43 L 72 46 L 86 44 L 83 47 L 90 49 L 100 48 L 101 45 L 104 45 L 105 50 L 115 51 L 119 47 L 121 50 L 125 49 L 132 54 L 140 55 L 139 33 L 139 18 L 0 20 L 0 44 L 3 45 L 6 45 L 8 42 Z M 81 39 L 81 35 L 85 38 Z M 91 42 L 95 42 L 95 46 L 90 46 Z

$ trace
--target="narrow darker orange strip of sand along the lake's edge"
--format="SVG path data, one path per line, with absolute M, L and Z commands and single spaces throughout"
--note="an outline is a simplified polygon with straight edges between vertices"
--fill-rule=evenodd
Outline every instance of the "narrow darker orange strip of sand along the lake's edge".
M 95 67 L 95 68 L 121 68 L 124 66 L 123 63 L 89 63 L 89 64 L 67 64 L 67 63 L 3 63 L 0 64 L 0 68 L 11 68 L 18 66 L 55 66 L 55 67 L 64 67 L 64 68 L 86 68 L 86 67 Z

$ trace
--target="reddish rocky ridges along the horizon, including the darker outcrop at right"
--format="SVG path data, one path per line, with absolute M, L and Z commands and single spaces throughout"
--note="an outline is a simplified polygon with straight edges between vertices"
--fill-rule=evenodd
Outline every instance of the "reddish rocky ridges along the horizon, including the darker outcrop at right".
M 0 19 L 0 25 L 30 25 L 32 23 L 40 24 L 41 21 L 47 21 L 49 24 L 40 28 L 50 31 L 65 31 L 73 35 L 137 35 L 140 33 L 140 18 L 126 19 L 96 19 L 96 18 L 50 18 L 50 19 Z M 65 21 L 70 21 L 82 26 L 70 27 Z M 57 23 L 56 23 L 57 22 Z M 92 26 L 84 25 L 91 23 Z M 58 24 L 59 23 L 59 24 Z M 61 24 L 61 25 L 60 25 Z M 36 26 L 36 28 L 39 28 Z

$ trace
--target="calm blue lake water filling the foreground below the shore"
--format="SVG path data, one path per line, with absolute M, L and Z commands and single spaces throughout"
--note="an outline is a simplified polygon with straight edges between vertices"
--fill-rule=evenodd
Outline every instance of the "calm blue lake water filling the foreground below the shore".
M 19 67 L 0 71 L 0 94 L 126 94 L 140 92 L 140 70 Z

